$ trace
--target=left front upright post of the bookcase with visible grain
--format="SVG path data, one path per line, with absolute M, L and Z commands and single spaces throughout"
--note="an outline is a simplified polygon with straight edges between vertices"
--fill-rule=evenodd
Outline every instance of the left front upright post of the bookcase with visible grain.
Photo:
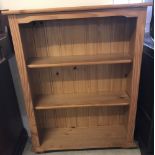
M 21 80 L 23 94 L 24 94 L 25 106 L 26 106 L 27 115 L 29 119 L 30 130 L 32 134 L 31 135 L 32 144 L 33 144 L 33 147 L 39 147 L 40 146 L 39 134 L 38 134 L 36 118 L 33 110 L 31 90 L 30 90 L 29 80 L 27 76 L 24 52 L 23 52 L 23 47 L 22 47 L 22 42 L 20 38 L 20 32 L 19 32 L 16 16 L 14 15 L 9 16 L 9 24 L 10 24 L 13 45 L 14 45 L 20 80 Z

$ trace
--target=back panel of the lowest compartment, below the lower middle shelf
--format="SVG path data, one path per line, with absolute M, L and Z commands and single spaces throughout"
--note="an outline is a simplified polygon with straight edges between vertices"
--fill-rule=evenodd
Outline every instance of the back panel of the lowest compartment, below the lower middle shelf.
M 41 128 L 78 128 L 124 125 L 128 107 L 72 108 L 37 111 Z

